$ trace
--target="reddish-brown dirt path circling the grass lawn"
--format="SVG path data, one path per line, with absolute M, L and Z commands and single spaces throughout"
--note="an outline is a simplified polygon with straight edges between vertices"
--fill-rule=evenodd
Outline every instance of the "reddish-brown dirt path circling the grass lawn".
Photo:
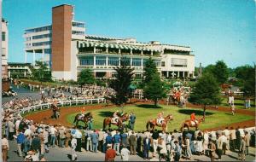
M 131 104 L 129 104 L 129 105 L 138 105 L 138 104 L 152 104 L 152 102 L 145 102 L 143 100 L 131 100 Z M 160 104 L 166 104 L 166 103 L 165 103 L 165 101 L 160 101 Z M 81 112 L 83 107 L 85 107 L 86 111 L 90 111 L 90 110 L 95 110 L 95 109 L 111 108 L 111 107 L 115 107 L 115 106 L 114 105 L 108 105 L 108 106 L 90 105 L 90 106 L 78 106 L 78 107 L 64 107 L 64 108 L 61 108 L 60 119 L 50 119 L 49 117 L 52 115 L 51 110 L 45 110 L 43 112 L 29 114 L 26 116 L 26 119 L 33 120 L 36 123 L 40 123 L 43 121 L 46 124 L 62 124 L 64 126 L 72 126 L 72 124 L 67 122 L 67 115 L 69 115 L 71 113 L 79 113 L 79 112 Z M 187 104 L 187 107 L 200 108 L 200 109 L 202 108 L 201 106 L 197 106 L 197 105 L 193 105 L 193 104 Z M 230 113 L 230 109 L 227 107 L 218 107 L 218 109 L 212 108 L 212 107 L 207 107 L 207 109 Z M 236 109 L 236 113 L 255 116 L 255 113 L 253 111 L 249 111 L 249 110 Z M 233 126 L 234 128 L 236 128 L 237 126 L 253 127 L 253 126 L 255 126 L 255 119 L 243 121 L 240 123 L 234 123 L 234 124 L 227 123 L 226 126 Z M 216 127 L 216 128 L 207 129 L 207 130 L 224 129 L 226 126 Z

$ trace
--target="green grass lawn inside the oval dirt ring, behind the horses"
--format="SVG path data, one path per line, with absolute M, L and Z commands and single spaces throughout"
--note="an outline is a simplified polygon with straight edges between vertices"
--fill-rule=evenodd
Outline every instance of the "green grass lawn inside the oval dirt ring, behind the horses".
M 106 117 L 112 116 L 113 112 L 118 110 L 119 107 L 113 107 L 108 109 L 100 110 L 91 110 L 93 113 L 94 122 L 93 126 L 95 129 L 102 129 L 103 119 Z M 201 109 L 192 109 L 192 108 L 178 108 L 174 106 L 165 106 L 161 105 L 160 108 L 154 108 L 151 105 L 137 105 L 137 106 L 126 106 L 124 107 L 125 113 L 134 112 L 137 116 L 135 123 L 135 130 L 145 130 L 146 123 L 149 119 L 154 119 L 157 117 L 157 114 L 161 111 L 164 112 L 164 116 L 169 113 L 172 113 L 173 120 L 168 124 L 168 130 L 180 129 L 181 124 L 185 119 L 190 119 L 190 114 L 195 112 L 196 118 L 201 118 L 203 111 Z M 72 113 L 67 116 L 67 122 L 73 123 L 74 116 L 77 113 Z M 214 128 L 218 126 L 224 126 L 231 123 L 241 122 L 248 119 L 253 119 L 252 116 L 236 114 L 232 116 L 231 113 L 224 113 L 218 111 L 207 110 L 207 116 L 205 123 L 200 125 L 200 129 Z M 82 122 L 79 124 L 83 125 Z M 116 128 L 115 125 L 112 125 L 112 128 Z M 157 127 L 160 129 L 160 127 Z

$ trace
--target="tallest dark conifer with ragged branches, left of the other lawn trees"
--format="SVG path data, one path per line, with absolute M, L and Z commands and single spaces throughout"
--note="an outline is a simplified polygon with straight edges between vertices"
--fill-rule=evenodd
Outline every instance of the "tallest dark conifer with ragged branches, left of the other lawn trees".
M 116 72 L 115 78 L 110 81 L 109 87 L 115 90 L 115 95 L 112 95 L 111 101 L 123 108 L 123 104 L 128 101 L 129 96 L 131 96 L 131 79 L 133 75 L 133 68 L 126 60 L 126 58 L 121 58 L 120 67 L 114 67 Z

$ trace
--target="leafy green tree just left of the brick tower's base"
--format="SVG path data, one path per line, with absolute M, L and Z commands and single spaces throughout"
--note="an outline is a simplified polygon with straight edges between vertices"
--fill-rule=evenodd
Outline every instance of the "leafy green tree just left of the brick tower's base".
M 32 67 L 32 78 L 39 82 L 51 82 L 51 71 L 42 61 L 36 61 L 36 66 Z

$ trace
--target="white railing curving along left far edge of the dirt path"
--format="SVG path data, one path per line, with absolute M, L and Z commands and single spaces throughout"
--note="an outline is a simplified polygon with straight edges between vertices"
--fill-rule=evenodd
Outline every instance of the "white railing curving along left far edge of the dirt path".
M 93 103 L 105 103 L 105 98 L 96 98 L 96 99 L 82 99 L 82 100 L 73 100 L 73 101 L 57 101 L 58 107 L 65 107 L 65 106 L 74 106 L 74 105 L 86 105 L 86 104 L 93 104 Z M 30 113 L 32 111 L 42 110 L 42 109 L 49 109 L 52 103 L 43 103 L 34 105 L 31 107 L 24 107 L 20 109 L 20 114 L 22 113 Z

